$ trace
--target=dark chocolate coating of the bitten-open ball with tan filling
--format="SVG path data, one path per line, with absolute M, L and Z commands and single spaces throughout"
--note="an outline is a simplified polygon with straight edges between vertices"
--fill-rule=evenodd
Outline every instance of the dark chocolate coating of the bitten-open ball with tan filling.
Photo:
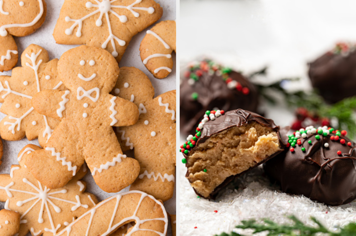
M 223 183 L 221 183 L 218 187 L 216 187 L 214 189 L 214 191 L 210 194 L 209 198 L 216 197 L 216 195 L 219 193 L 219 191 L 221 191 L 221 189 L 223 189 L 228 183 L 230 183 L 236 177 L 239 177 L 240 175 L 244 174 L 245 172 L 261 165 L 262 163 L 266 162 L 267 160 L 271 159 L 272 157 L 274 157 L 277 154 L 279 154 L 280 152 L 282 152 L 284 150 L 284 147 L 288 143 L 288 137 L 286 135 L 286 133 L 288 131 L 287 129 L 279 130 L 279 126 L 274 124 L 273 120 L 267 119 L 265 117 L 260 116 L 259 114 L 253 113 L 253 112 L 245 111 L 243 109 L 237 109 L 234 111 L 226 112 L 224 115 L 217 117 L 215 120 L 209 120 L 208 122 L 206 122 L 204 124 L 204 127 L 201 129 L 201 136 L 198 138 L 197 143 L 192 148 L 192 150 L 194 150 L 199 144 L 204 143 L 206 140 L 208 140 L 211 135 L 220 133 L 223 130 L 232 128 L 234 126 L 240 127 L 240 126 L 246 125 L 250 122 L 256 122 L 258 124 L 261 124 L 263 126 L 271 128 L 275 132 L 277 132 L 278 138 L 279 138 L 279 144 L 281 145 L 281 149 L 278 152 L 274 153 L 273 155 L 267 157 L 262 162 L 256 163 L 255 166 L 249 168 L 248 170 L 241 172 L 237 175 L 229 176 L 228 178 L 226 178 Z M 192 150 L 190 150 L 190 151 L 192 151 Z M 189 159 L 189 153 L 183 154 L 187 160 Z M 185 166 L 188 168 L 188 162 L 187 162 L 187 164 L 185 164 Z M 188 177 L 188 176 L 189 176 L 189 171 L 187 170 L 185 177 Z M 195 193 L 197 193 L 197 192 L 195 191 Z M 203 197 L 199 193 L 197 193 L 197 195 L 199 195 L 200 197 Z

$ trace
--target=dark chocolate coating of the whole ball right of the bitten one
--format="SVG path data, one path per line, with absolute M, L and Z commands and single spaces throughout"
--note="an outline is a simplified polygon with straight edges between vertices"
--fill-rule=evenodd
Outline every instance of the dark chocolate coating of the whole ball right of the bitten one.
M 344 136 L 332 141 L 331 136 L 335 135 L 320 135 L 320 140 L 312 134 L 301 138 L 302 145 L 295 146 L 294 152 L 287 148 L 265 163 L 267 175 L 280 182 L 286 193 L 303 194 L 328 205 L 351 202 L 356 198 L 355 143 Z M 341 139 L 346 140 L 345 144 L 340 143 Z M 325 148 L 324 143 L 329 147 Z M 337 155 L 337 151 L 342 154 Z

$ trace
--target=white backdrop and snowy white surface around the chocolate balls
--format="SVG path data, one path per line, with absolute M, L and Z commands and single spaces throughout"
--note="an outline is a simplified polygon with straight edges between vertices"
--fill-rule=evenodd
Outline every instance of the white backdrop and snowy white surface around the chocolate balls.
M 268 65 L 269 80 L 300 77 L 292 87 L 309 89 L 307 62 L 336 42 L 356 41 L 355 9 L 351 0 L 181 0 L 180 70 L 207 55 L 245 73 Z M 287 107 L 262 107 L 278 125 L 292 123 Z M 315 216 L 330 229 L 356 221 L 355 203 L 328 207 L 276 192 L 260 169 L 244 175 L 236 182 L 237 190 L 216 202 L 197 199 L 184 178 L 184 165 L 178 166 L 180 235 L 230 232 L 249 218 L 286 222 L 291 214 L 309 223 Z

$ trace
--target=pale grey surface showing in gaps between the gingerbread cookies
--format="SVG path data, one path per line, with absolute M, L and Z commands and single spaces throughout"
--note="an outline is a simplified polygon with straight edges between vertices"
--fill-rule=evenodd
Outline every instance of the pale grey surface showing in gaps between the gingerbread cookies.
M 11 1 L 11 0 L 10 0 Z M 70 48 L 76 47 L 76 45 L 62 45 L 56 44 L 52 36 L 54 26 L 56 25 L 57 19 L 59 17 L 59 12 L 63 5 L 64 0 L 46 0 L 47 3 L 47 16 L 46 21 L 43 23 L 41 28 L 39 28 L 35 33 L 26 37 L 15 37 L 15 41 L 18 46 L 19 51 L 19 62 L 17 66 L 20 66 L 20 55 L 23 50 L 28 47 L 28 45 L 35 43 L 45 48 L 48 51 L 49 59 L 60 58 L 61 55 L 69 50 Z M 156 0 L 163 8 L 163 16 L 159 21 L 164 20 L 176 20 L 176 0 Z M 158 21 L 158 22 L 159 22 Z M 96 27 L 96 26 L 95 26 Z M 150 26 L 149 28 L 151 28 Z M 148 77 L 155 88 L 155 96 L 160 95 L 161 93 L 176 89 L 176 67 L 173 67 L 172 73 L 162 80 L 155 79 L 152 74 L 146 69 L 142 64 L 140 58 L 140 43 L 146 35 L 146 31 L 149 29 L 143 30 L 141 33 L 138 33 L 131 40 L 129 47 L 127 47 L 124 56 L 121 59 L 119 64 L 122 66 L 135 66 L 136 68 L 142 70 Z M 173 60 L 175 61 L 175 54 L 173 55 Z M 0 72 L 0 75 L 11 75 L 11 71 L 4 73 Z M 0 119 L 4 118 L 5 115 L 0 113 Z M 37 140 L 28 141 L 27 138 L 24 138 L 21 141 L 4 141 L 4 155 L 2 157 L 2 164 L 0 166 L 0 174 L 10 173 L 11 165 L 18 164 L 17 154 L 19 151 L 27 144 L 36 144 L 38 145 Z M 88 173 L 84 180 L 87 182 L 87 192 L 95 194 L 99 201 L 104 200 L 116 193 L 106 193 L 102 191 L 94 182 L 90 173 Z M 122 192 L 128 191 L 128 188 L 122 190 Z M 3 208 L 4 203 L 0 203 L 0 208 Z M 164 206 L 168 213 L 176 214 L 176 194 L 174 197 L 164 203 Z M 169 226 L 169 234 L 170 234 Z M 30 233 L 28 235 L 31 235 Z

